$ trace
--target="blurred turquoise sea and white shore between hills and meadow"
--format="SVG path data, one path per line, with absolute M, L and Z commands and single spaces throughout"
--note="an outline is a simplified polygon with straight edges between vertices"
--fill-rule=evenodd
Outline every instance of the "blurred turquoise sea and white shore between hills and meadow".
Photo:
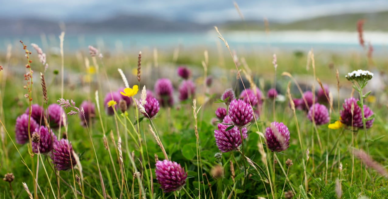
M 222 33 L 231 50 L 242 48 L 271 51 L 334 51 L 338 53 L 353 53 L 363 51 L 359 45 L 357 32 L 336 31 L 279 31 L 265 33 L 262 31 L 245 32 L 231 31 Z M 59 49 L 59 38 L 54 34 L 37 36 L 0 36 L 0 51 L 7 50 L 9 44 L 20 45 L 23 40 L 26 45 L 36 43 L 43 51 L 50 49 L 55 53 Z M 97 46 L 101 51 L 111 53 L 117 51 L 139 51 L 158 48 L 171 51 L 180 48 L 212 49 L 221 45 L 223 41 L 215 31 L 201 33 L 127 33 L 127 34 L 65 34 L 64 49 L 87 50 L 88 45 Z M 364 40 L 371 43 L 375 54 L 388 52 L 388 33 L 365 32 Z

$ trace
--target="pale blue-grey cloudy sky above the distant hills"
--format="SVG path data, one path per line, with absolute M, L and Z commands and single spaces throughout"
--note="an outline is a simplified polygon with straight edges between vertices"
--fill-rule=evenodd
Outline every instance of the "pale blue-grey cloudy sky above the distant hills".
M 90 21 L 118 14 L 199 23 L 238 20 L 233 0 L 0 0 L 0 17 Z M 388 0 L 236 0 L 246 19 L 295 21 L 321 15 L 388 10 Z

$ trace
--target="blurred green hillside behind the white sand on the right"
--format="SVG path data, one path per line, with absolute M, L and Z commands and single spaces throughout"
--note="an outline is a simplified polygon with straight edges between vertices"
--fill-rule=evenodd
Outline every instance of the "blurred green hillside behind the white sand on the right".
M 277 23 L 269 20 L 269 29 L 273 30 L 338 30 L 355 31 L 359 19 L 366 19 L 365 30 L 388 31 L 388 11 L 374 13 L 340 14 L 289 23 Z M 220 25 L 224 30 L 264 30 L 263 21 L 226 22 Z

